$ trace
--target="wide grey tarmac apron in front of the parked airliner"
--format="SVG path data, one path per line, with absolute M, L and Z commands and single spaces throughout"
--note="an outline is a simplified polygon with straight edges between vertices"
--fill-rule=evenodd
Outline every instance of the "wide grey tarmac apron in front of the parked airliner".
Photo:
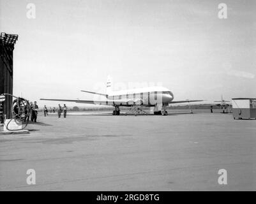
M 0 135 L 0 190 L 255 191 L 256 120 L 187 112 L 40 115 L 29 134 Z

